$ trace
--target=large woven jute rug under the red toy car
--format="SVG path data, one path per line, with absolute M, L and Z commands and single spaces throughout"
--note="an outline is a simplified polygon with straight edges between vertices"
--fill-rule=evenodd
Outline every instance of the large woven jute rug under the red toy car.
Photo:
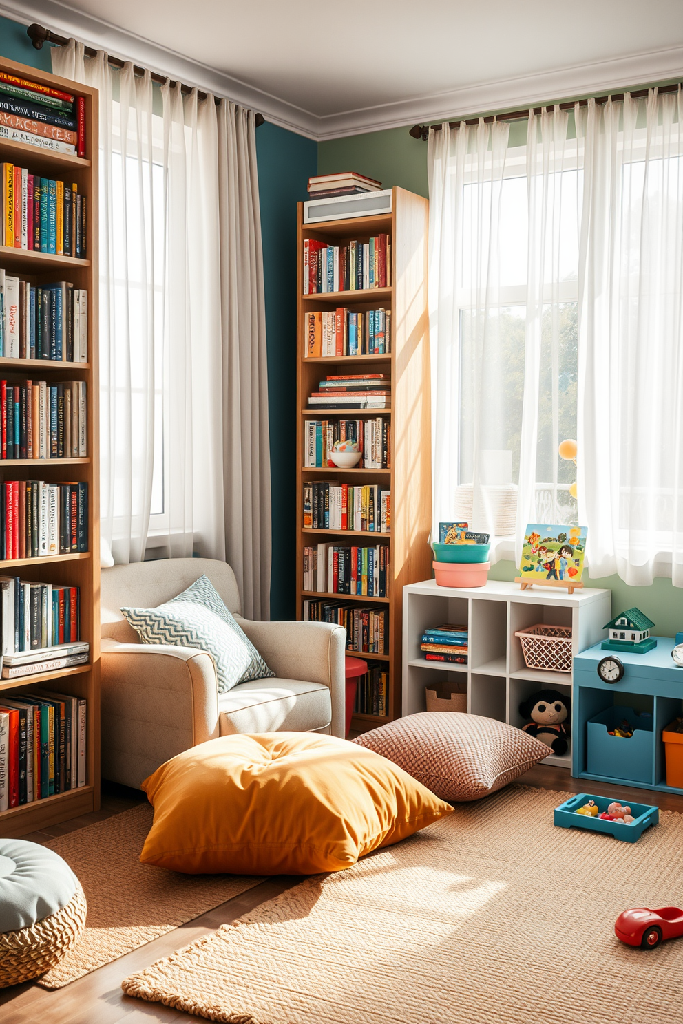
M 632 845 L 554 827 L 568 796 L 460 805 L 123 989 L 232 1024 L 681 1024 L 683 940 L 641 951 L 613 925 L 683 899 L 683 816 Z

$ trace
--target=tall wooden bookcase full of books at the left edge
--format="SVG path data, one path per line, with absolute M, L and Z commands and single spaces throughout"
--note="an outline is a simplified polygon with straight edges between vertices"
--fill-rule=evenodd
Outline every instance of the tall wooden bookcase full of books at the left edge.
M 5 836 L 99 806 L 97 134 L 96 90 L 0 58 Z

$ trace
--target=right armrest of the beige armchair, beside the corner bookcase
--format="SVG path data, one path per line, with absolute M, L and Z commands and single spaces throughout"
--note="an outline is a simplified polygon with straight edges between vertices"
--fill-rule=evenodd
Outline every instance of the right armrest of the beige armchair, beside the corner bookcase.
M 236 617 L 276 676 L 329 687 L 332 734 L 343 738 L 346 734 L 346 630 L 331 623 L 259 623 Z

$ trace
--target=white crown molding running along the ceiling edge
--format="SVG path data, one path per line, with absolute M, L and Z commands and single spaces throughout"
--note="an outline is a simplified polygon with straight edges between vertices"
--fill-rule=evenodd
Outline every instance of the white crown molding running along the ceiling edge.
M 478 113 L 599 95 L 638 85 L 667 82 L 683 75 L 683 46 L 672 46 L 321 117 L 134 33 L 75 11 L 57 0 L 13 0 L 11 6 L 0 0 L 0 12 L 25 25 L 43 23 L 47 28 L 65 36 L 74 36 L 88 46 L 133 60 L 158 74 L 215 95 L 225 96 L 242 106 L 259 111 L 266 121 L 316 142 L 400 128 L 418 122 L 452 121 Z

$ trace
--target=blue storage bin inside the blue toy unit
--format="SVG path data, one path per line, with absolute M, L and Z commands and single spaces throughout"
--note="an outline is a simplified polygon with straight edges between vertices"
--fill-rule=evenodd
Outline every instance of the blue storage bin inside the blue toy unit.
M 633 736 L 630 739 L 610 736 L 607 730 L 616 728 L 624 719 L 633 729 Z M 651 715 L 645 712 L 639 715 L 633 708 L 614 706 L 592 718 L 587 728 L 586 770 L 589 775 L 653 782 L 654 731 Z

